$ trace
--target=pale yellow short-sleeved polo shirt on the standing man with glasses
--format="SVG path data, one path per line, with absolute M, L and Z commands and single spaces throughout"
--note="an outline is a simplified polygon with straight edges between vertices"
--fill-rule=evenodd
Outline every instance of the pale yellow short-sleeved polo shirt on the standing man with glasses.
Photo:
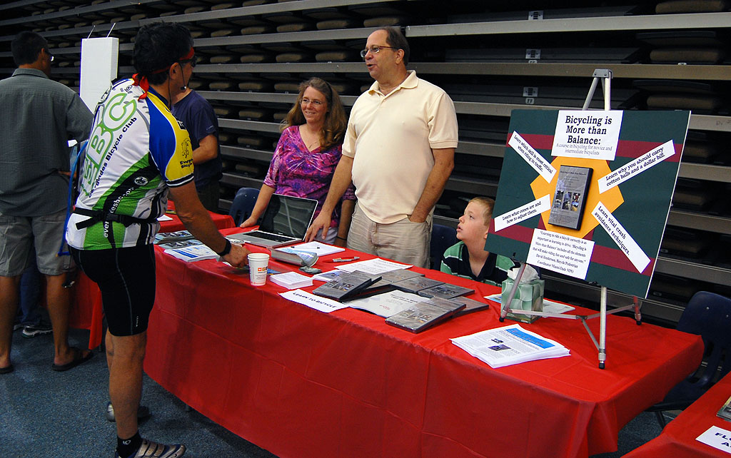
M 457 142 L 455 107 L 442 88 L 414 71 L 387 95 L 376 81 L 355 101 L 343 142 L 363 213 L 381 224 L 410 215 L 434 165 L 432 148 Z

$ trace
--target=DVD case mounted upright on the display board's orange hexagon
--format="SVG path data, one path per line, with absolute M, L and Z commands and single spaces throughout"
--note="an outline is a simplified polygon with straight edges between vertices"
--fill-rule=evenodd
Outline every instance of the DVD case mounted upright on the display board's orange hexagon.
M 592 169 L 562 165 L 558 169 L 556 194 L 550 210 L 548 223 L 556 226 L 579 229 L 584 215 L 586 194 L 591 186 Z

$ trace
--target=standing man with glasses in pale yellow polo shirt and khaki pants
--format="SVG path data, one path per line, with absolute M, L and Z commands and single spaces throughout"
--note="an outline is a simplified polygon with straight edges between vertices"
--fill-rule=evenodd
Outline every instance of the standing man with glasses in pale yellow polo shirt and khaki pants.
M 398 28 L 374 31 L 360 55 L 376 82 L 353 105 L 343 156 L 307 240 L 319 229 L 325 236 L 352 181 L 358 201 L 348 248 L 428 267 L 433 207 L 454 167 L 454 104 L 406 70 L 409 44 Z

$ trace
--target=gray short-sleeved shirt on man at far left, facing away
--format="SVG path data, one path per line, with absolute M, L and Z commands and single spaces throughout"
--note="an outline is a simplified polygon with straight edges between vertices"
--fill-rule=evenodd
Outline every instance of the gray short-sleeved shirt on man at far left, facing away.
M 77 93 L 37 69 L 0 81 L 0 214 L 49 215 L 67 206 L 68 140 L 94 116 Z

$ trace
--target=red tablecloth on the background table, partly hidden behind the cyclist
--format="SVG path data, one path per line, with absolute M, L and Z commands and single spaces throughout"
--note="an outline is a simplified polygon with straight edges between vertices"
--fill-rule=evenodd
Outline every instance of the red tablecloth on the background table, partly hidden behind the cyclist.
M 175 205 L 168 202 L 168 211 L 174 212 Z M 233 218 L 230 215 L 210 213 L 213 223 L 219 229 L 234 227 Z M 160 232 L 175 232 L 185 229 L 183 222 L 175 213 L 168 213 L 170 221 L 160 222 Z M 89 330 L 89 348 L 96 348 L 102 343 L 102 293 L 96 283 L 89 280 L 81 270 L 78 271 L 74 292 L 72 293 L 71 315 L 69 326 L 77 329 Z

